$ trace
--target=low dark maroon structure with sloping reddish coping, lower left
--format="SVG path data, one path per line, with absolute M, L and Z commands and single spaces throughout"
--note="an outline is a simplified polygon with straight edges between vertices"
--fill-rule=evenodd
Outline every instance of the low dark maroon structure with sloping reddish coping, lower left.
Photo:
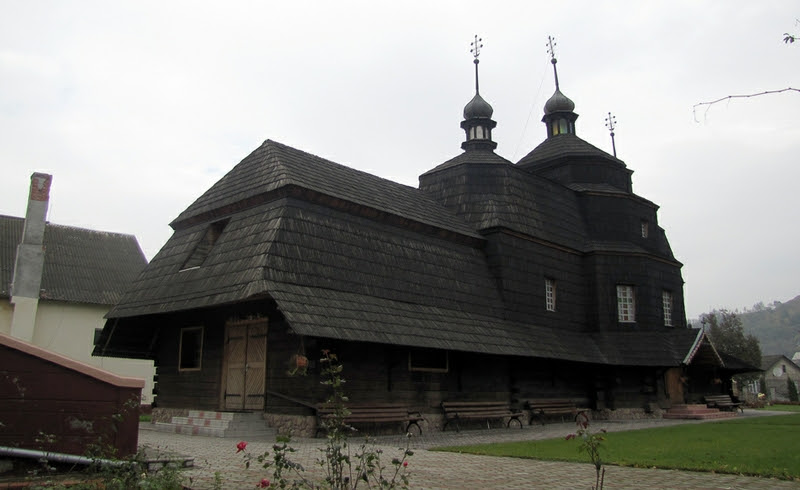
M 136 453 L 144 380 L 0 334 L 0 445 L 85 455 Z M 96 454 L 96 453 L 93 453 Z

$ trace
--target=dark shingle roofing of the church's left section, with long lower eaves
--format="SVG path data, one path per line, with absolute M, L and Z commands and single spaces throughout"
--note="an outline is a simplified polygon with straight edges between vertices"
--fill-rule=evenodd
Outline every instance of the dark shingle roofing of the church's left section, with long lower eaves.
M 478 230 L 505 226 L 583 249 L 575 193 L 505 160 L 451 163 L 431 173 L 443 186 L 448 175 L 485 174 L 443 206 L 267 141 L 181 213 L 107 316 L 136 328 L 137 317 L 269 297 L 301 335 L 602 364 L 681 362 L 692 344 L 676 330 L 634 342 L 628 332 L 595 337 L 506 319 Z M 187 267 L 220 220 L 207 257 Z

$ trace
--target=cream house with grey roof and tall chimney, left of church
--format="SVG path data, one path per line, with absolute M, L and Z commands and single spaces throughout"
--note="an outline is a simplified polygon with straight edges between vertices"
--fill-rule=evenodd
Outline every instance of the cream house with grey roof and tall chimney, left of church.
M 104 316 L 147 260 L 136 237 L 46 220 L 52 176 L 31 176 L 26 216 L 0 215 L 0 334 L 145 380 L 153 362 L 92 357 Z

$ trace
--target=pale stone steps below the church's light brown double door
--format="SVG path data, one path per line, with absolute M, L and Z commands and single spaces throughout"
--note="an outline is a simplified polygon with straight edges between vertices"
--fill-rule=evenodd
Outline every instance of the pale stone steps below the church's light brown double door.
M 187 417 L 172 417 L 170 422 L 156 422 L 153 429 L 189 436 L 274 439 L 275 429 L 268 427 L 260 412 L 209 412 L 189 410 Z

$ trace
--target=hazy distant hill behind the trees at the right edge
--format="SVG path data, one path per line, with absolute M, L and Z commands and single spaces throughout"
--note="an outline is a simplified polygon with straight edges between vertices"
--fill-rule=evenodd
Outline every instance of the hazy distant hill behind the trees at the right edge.
M 758 338 L 763 355 L 783 354 L 791 359 L 800 351 L 800 296 L 785 303 L 756 303 L 752 309 L 734 311 L 742 320 L 745 333 Z M 690 323 L 700 326 L 699 320 Z

